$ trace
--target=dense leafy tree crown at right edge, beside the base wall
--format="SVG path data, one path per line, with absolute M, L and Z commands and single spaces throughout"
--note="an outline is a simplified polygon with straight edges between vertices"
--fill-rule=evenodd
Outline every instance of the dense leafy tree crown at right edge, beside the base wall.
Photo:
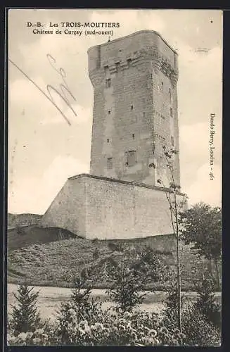
M 198 203 L 180 213 L 181 238 L 193 243 L 205 258 L 219 258 L 222 251 L 222 210 L 206 203 Z

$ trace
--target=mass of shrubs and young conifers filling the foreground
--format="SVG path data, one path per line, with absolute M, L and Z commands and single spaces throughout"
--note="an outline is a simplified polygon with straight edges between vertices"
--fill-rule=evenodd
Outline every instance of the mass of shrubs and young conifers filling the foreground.
M 115 283 L 108 295 L 116 302 L 115 309 L 103 310 L 102 303 L 90 297 L 90 276 L 88 270 L 82 270 L 78 275 L 72 274 L 75 288 L 70 300 L 61 304 L 53 325 L 47 322 L 37 329 L 41 327 L 36 308 L 38 293 L 25 285 L 19 287 L 15 296 L 21 306 L 14 308 L 15 320 L 8 324 L 8 344 L 219 346 L 219 330 L 210 318 L 215 307 L 209 284 L 203 282 L 196 303 L 188 298 L 181 300 L 181 334 L 177 328 L 177 290 L 170 292 L 161 315 L 134 310 L 143 301 L 143 284 L 162 279 L 165 267 L 149 248 L 141 250 L 135 258 L 127 254 L 129 251 L 122 255 L 122 260 L 110 260 L 108 265 Z

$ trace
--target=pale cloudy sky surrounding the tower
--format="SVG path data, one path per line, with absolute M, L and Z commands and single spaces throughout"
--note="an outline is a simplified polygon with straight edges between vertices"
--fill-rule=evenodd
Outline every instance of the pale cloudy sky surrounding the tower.
M 179 54 L 181 191 L 189 196 L 190 205 L 199 201 L 221 205 L 222 11 L 11 9 L 8 13 L 9 213 L 43 214 L 68 177 L 89 172 L 94 94 L 88 75 L 87 50 L 108 41 L 108 35 L 33 34 L 34 27 L 27 27 L 28 22 L 39 22 L 44 25 L 42 30 L 54 32 L 65 29 L 60 27 L 61 22 L 120 23 L 120 27 L 113 28 L 110 40 L 138 30 L 160 32 Z M 50 27 L 50 23 L 58 23 L 59 27 Z M 50 60 L 47 54 L 51 55 Z M 68 96 L 72 110 L 53 91 L 52 96 L 70 125 L 46 97 L 47 85 L 60 92 L 63 82 L 60 68 L 72 93 L 72 97 Z M 209 175 L 211 113 L 215 114 L 213 180 Z

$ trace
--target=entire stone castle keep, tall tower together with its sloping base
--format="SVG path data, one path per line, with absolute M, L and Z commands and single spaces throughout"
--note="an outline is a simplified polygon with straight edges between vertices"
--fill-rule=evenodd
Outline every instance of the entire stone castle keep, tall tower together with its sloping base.
M 177 52 L 157 32 L 143 30 L 91 47 L 88 58 L 90 175 L 70 177 L 40 225 L 89 239 L 172 234 L 162 146 L 179 151 Z M 179 154 L 173 163 L 179 185 Z

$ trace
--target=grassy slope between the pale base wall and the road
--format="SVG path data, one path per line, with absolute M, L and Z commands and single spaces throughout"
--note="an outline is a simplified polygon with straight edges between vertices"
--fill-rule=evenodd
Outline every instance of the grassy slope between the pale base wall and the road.
M 23 235 L 9 232 L 8 237 L 8 281 L 15 284 L 26 280 L 32 285 L 70 287 L 70 272 L 99 264 L 100 279 L 95 280 L 94 288 L 106 288 L 109 286 L 103 275 L 106 260 L 121 256 L 124 246 L 134 249 L 150 243 L 155 251 L 160 253 L 165 264 L 175 270 L 176 256 L 172 237 L 90 241 L 75 237 L 64 230 L 39 229 L 39 227 L 26 227 Z M 165 246 L 165 243 L 170 246 Z M 96 248 L 97 259 L 94 257 Z M 207 260 L 201 260 L 189 246 L 184 245 L 181 248 L 181 266 L 184 290 L 193 290 L 194 282 L 199 282 L 206 272 L 210 272 Z M 164 290 L 169 285 L 170 283 L 160 282 L 146 289 L 154 287 Z

